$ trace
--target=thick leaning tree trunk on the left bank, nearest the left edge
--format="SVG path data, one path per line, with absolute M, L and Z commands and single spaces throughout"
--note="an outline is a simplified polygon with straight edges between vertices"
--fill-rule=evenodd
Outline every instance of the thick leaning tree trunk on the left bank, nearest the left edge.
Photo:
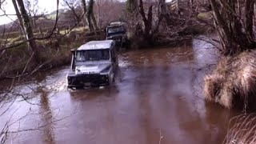
M 34 34 L 33 34 L 31 24 L 30 24 L 30 17 L 26 13 L 26 9 L 25 9 L 23 1 L 18 0 L 17 2 L 18 2 L 21 17 L 22 17 L 22 23 L 24 26 L 24 30 L 26 32 L 26 39 L 28 40 L 30 56 L 32 56 L 34 60 L 39 62 L 39 58 L 38 58 L 39 54 L 38 54 L 37 45 L 34 41 Z

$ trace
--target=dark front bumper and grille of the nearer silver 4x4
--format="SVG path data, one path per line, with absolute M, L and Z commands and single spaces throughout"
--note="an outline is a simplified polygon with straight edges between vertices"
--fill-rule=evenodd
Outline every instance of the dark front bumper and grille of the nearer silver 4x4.
M 108 86 L 110 85 L 110 79 L 108 75 L 101 74 L 68 75 L 67 84 L 69 88 L 83 86 Z

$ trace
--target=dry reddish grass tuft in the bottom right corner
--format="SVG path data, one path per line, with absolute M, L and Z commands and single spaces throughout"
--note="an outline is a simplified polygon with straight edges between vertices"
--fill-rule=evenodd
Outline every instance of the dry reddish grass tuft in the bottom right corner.
M 255 114 L 238 115 L 230 120 L 225 144 L 254 144 L 256 143 L 256 117 Z

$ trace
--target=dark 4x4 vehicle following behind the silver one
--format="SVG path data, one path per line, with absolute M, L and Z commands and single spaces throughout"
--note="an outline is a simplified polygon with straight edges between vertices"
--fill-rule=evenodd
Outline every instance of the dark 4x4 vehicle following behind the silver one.
M 128 46 L 124 22 L 110 22 L 106 27 L 106 39 L 114 40 L 118 46 Z

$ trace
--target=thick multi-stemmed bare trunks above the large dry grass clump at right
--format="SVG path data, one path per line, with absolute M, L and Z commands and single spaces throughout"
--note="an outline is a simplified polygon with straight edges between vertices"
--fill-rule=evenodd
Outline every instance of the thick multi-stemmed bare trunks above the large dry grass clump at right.
M 244 12 L 242 12 L 243 7 L 240 1 L 221 0 L 219 2 L 220 5 L 216 0 L 210 0 L 222 45 L 222 54 L 233 55 L 243 50 L 253 49 L 256 46 L 253 35 L 255 1 L 246 1 Z

